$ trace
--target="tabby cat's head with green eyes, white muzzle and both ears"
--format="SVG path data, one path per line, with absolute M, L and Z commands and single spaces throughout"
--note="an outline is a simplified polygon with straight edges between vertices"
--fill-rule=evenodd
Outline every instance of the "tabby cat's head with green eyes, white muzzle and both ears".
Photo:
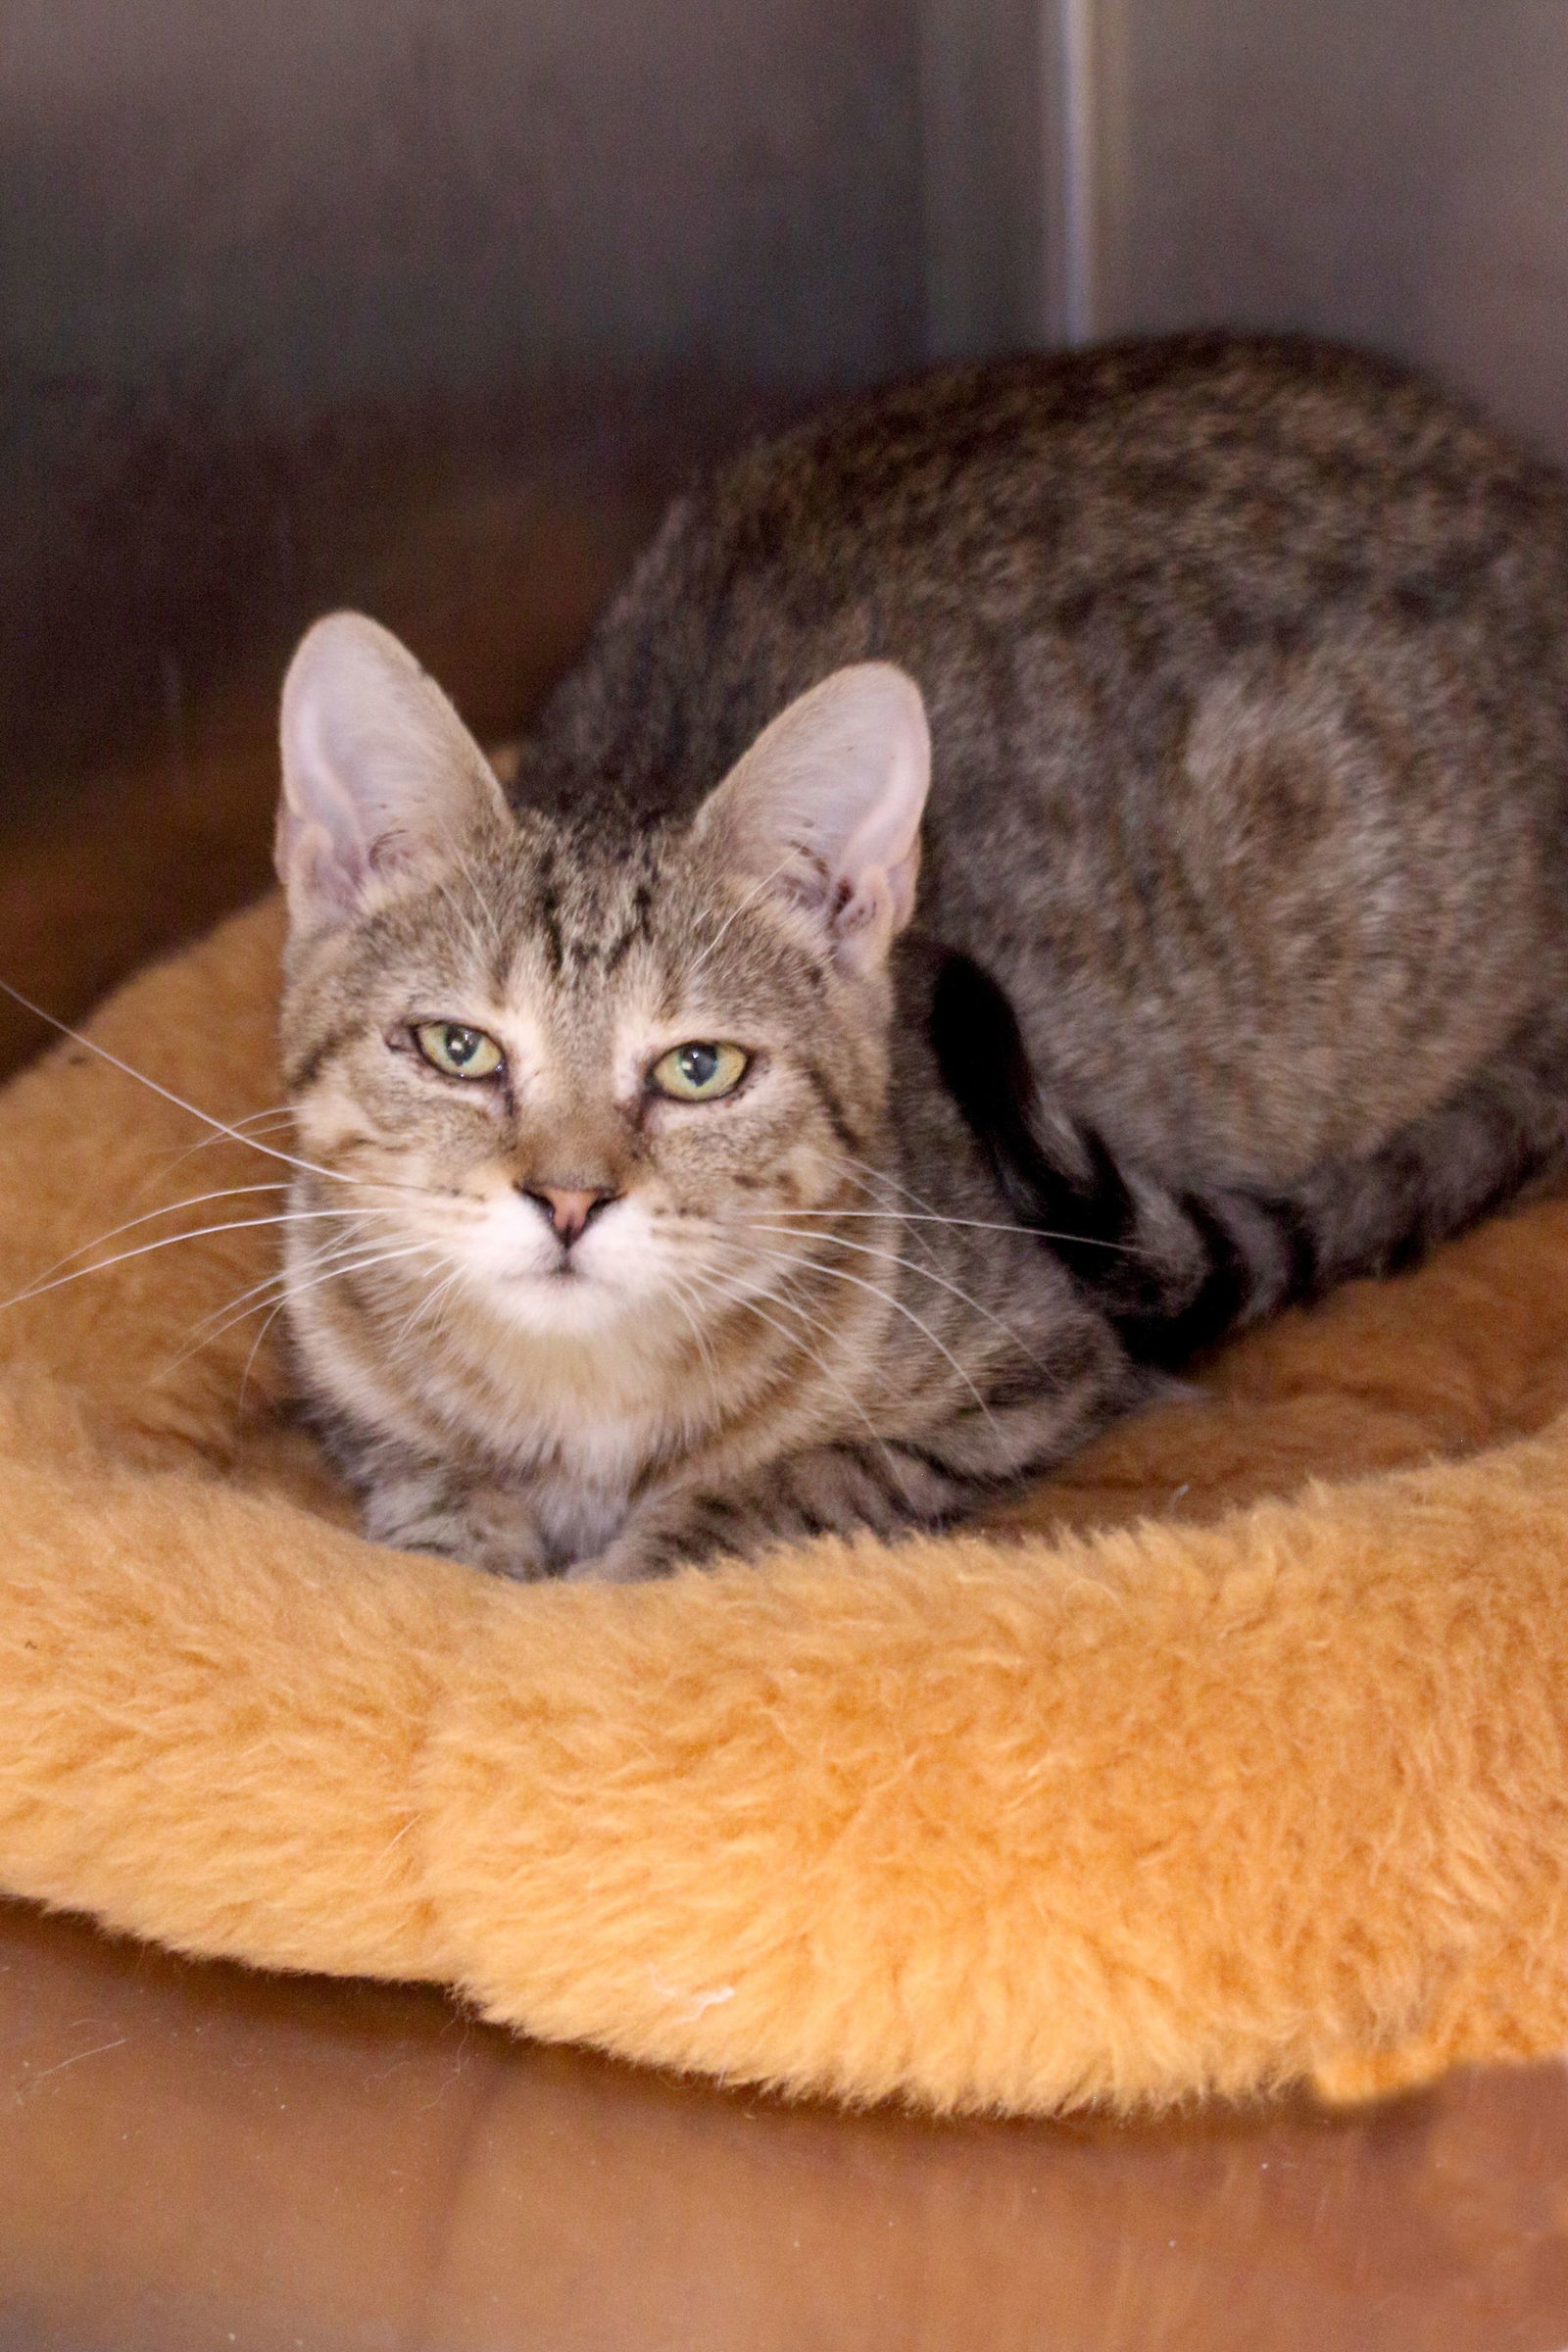
M 788 1296 L 811 1216 L 867 1207 L 929 783 L 903 670 L 835 673 L 696 816 L 609 830 L 512 814 L 404 647 L 334 614 L 282 774 L 301 1155 L 409 1301 L 451 1279 L 515 1331 L 637 1345 Z

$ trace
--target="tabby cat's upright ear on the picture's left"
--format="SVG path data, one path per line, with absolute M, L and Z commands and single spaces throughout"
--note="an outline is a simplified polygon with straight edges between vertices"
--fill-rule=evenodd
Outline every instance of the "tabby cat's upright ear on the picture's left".
M 357 612 L 306 630 L 282 687 L 275 851 L 294 929 L 353 922 L 496 823 L 501 786 L 414 654 Z

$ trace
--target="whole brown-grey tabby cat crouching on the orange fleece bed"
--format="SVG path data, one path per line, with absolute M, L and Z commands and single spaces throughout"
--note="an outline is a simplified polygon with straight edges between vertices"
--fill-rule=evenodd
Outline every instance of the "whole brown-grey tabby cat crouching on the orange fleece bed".
M 1568 492 L 1366 355 L 863 395 L 682 496 L 510 762 L 282 701 L 292 1350 L 369 1536 L 961 1519 L 1568 1143 Z

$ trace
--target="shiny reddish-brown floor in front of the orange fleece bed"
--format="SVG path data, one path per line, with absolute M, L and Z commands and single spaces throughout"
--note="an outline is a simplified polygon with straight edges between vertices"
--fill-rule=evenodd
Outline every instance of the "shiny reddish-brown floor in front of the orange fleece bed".
M 0 1907 L 7 2352 L 1561 2352 L 1568 2077 L 780 2107 Z

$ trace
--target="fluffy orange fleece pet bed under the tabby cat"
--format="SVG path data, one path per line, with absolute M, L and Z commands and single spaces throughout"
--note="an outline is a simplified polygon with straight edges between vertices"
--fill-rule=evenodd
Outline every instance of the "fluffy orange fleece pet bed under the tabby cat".
M 268 906 L 94 1035 L 254 1112 L 275 955 Z M 80 1047 L 24 1073 L 5 1296 L 284 1174 L 200 1134 Z M 0 1317 L 7 1889 L 931 2107 L 1568 2044 L 1568 1204 L 1253 1336 L 994 1531 L 618 1590 L 362 1543 L 223 1324 L 273 1261 L 247 1228 Z

